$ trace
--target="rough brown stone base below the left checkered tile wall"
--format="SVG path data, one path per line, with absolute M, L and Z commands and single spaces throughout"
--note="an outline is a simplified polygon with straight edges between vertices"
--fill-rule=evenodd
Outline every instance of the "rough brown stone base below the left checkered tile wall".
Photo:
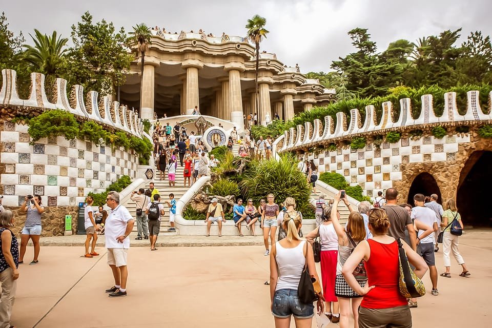
M 14 213 L 15 227 L 12 232 L 19 237 L 26 214 L 20 211 L 20 207 L 6 207 Z M 78 207 L 76 206 L 45 206 L 45 212 L 41 215 L 43 230 L 41 237 L 63 236 L 65 231 L 65 215 L 72 215 L 72 233 L 77 232 Z

